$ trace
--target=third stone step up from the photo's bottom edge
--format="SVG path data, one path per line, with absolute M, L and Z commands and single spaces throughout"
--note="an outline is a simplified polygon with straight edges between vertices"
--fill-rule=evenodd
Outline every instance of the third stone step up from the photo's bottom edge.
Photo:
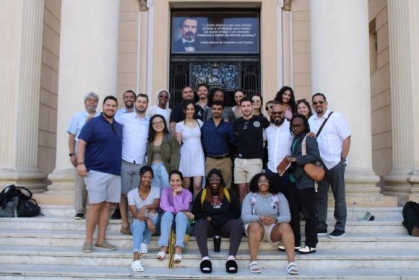
M 119 232 L 108 232 L 106 239 L 109 243 L 122 248 L 132 248 L 132 236 L 120 234 Z M 158 236 L 151 239 L 150 250 L 158 251 Z M 0 230 L 0 246 L 2 245 L 42 245 L 42 246 L 81 246 L 85 240 L 85 231 L 58 231 L 58 230 Z M 302 238 L 304 242 L 304 237 Z M 327 236 L 320 236 L 318 248 L 320 249 L 410 249 L 417 244 L 416 237 L 407 233 L 347 233 L 340 239 L 331 239 Z M 229 240 L 222 238 L 221 248 L 228 249 Z M 277 246 L 268 242 L 261 244 L 261 250 L 272 250 Z M 189 238 L 187 244 L 189 249 L 197 249 L 194 236 Z M 208 248 L 213 249 L 212 238 L 208 239 Z M 243 236 L 240 249 L 247 249 L 247 237 Z

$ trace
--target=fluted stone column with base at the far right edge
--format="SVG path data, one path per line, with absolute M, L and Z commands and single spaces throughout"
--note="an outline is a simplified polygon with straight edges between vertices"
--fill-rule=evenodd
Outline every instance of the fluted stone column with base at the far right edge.
M 388 1 L 393 169 L 384 190 L 400 205 L 419 201 L 418 17 L 418 1 Z

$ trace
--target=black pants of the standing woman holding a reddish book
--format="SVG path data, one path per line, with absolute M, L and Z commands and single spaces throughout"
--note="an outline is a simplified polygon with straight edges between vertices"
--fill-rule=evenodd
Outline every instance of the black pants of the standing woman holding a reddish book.
M 295 246 L 301 246 L 300 215 L 304 215 L 305 245 L 316 247 L 317 239 L 317 212 L 316 212 L 316 191 L 314 186 L 308 189 L 299 190 L 293 183 L 288 183 L 288 203 L 291 211 L 291 228 L 294 231 Z

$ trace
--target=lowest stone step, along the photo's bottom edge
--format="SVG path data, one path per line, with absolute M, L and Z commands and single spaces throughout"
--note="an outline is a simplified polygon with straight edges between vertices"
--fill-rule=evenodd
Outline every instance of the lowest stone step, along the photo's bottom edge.
M 144 272 L 132 272 L 129 266 L 76 266 L 76 265 L 22 265 L 0 264 L 2 280 L 44 280 L 46 278 L 74 280 L 75 278 L 109 279 L 342 279 L 342 280 L 417 280 L 419 269 L 305 269 L 299 267 L 299 275 L 288 275 L 283 268 L 264 269 L 261 274 L 251 274 L 247 268 L 237 274 L 227 274 L 223 268 L 214 268 L 211 274 L 203 274 L 198 268 L 145 267 Z

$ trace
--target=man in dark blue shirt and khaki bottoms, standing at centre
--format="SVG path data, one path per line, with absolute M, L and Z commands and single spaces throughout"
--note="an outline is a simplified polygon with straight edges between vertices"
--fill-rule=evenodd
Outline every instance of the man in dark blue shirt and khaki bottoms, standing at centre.
M 227 188 L 231 187 L 232 163 L 229 154 L 229 145 L 237 145 L 237 136 L 233 125 L 223 120 L 224 104 L 214 101 L 211 105 L 212 118 L 205 122 L 201 128 L 202 146 L 207 157 L 205 173 L 217 168 L 221 171 Z

